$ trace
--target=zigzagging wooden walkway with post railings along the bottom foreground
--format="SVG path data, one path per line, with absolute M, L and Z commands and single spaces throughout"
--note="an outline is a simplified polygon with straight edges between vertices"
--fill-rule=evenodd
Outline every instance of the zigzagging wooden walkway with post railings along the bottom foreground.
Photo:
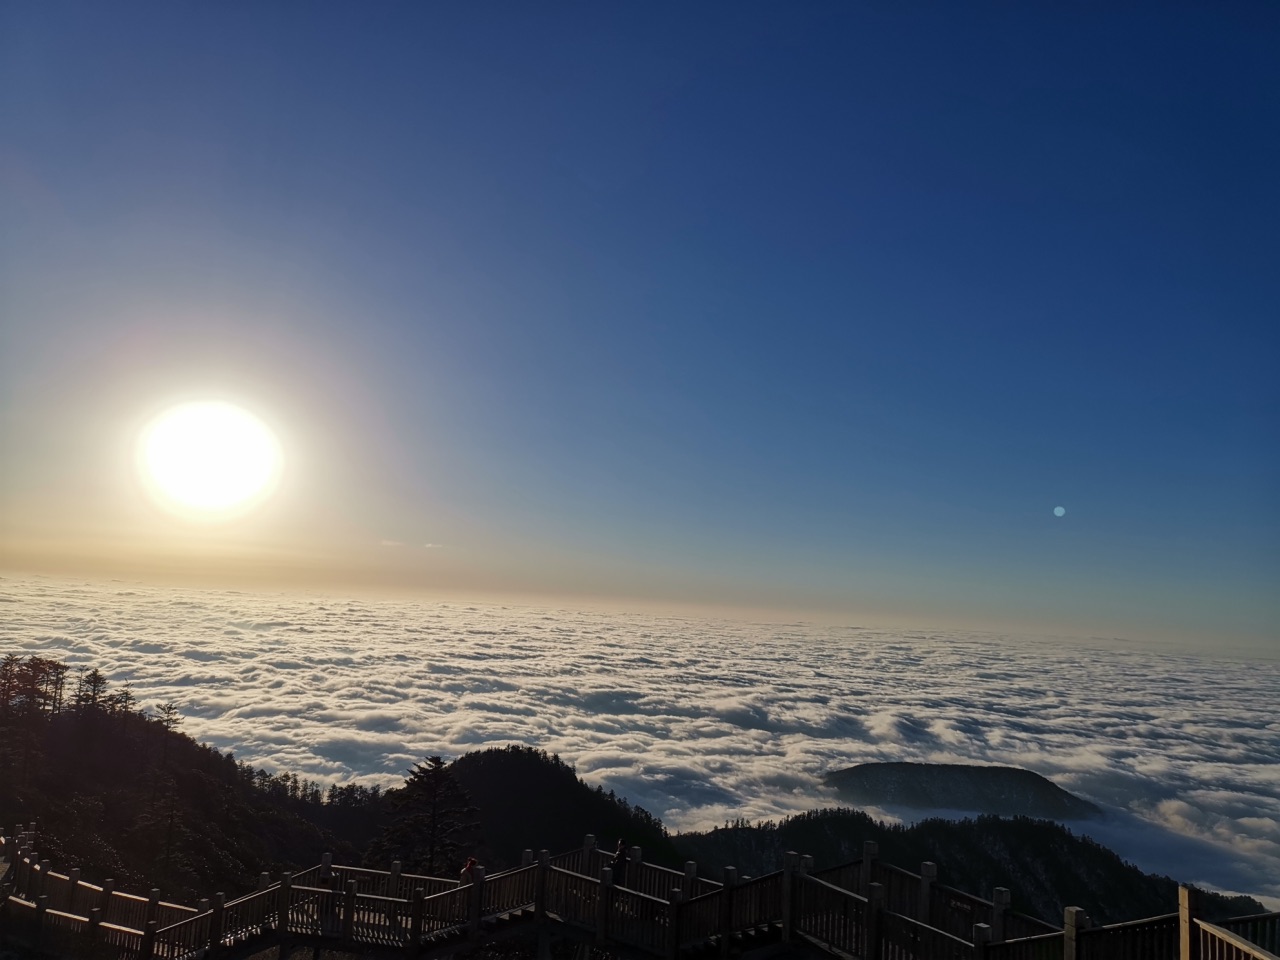
M 56 873 L 36 852 L 33 829 L 0 836 L 0 934 L 51 955 L 129 960 L 238 960 L 273 945 L 280 956 L 320 947 L 364 956 L 434 957 L 521 936 L 571 937 L 611 952 L 663 960 L 733 957 L 781 945 L 838 960 L 1280 960 L 1280 914 L 1207 923 L 1193 891 L 1179 911 L 1093 927 L 1068 908 L 1057 928 L 992 901 L 882 863 L 874 844 L 827 870 L 787 854 L 783 869 L 724 882 L 644 863 L 632 850 L 627 886 L 616 884 L 594 837 L 558 856 L 525 851 L 524 863 L 460 886 L 438 877 L 324 861 L 264 874 L 259 890 L 196 906 L 168 904 Z

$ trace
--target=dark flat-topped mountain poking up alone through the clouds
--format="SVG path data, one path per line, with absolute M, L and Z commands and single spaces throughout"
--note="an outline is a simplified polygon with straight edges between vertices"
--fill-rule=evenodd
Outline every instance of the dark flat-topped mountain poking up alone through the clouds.
M 860 763 L 828 773 L 826 782 L 855 806 L 972 810 L 1001 817 L 1082 820 L 1102 810 L 1050 780 L 1019 767 L 961 763 Z

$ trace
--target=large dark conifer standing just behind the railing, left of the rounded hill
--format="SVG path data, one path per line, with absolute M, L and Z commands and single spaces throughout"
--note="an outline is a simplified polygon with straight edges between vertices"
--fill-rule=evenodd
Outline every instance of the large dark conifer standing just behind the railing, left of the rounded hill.
M 385 868 L 399 860 L 406 873 L 452 877 L 462 852 L 476 841 L 476 808 L 439 756 L 413 764 L 404 786 L 388 791 L 390 823 L 366 861 Z

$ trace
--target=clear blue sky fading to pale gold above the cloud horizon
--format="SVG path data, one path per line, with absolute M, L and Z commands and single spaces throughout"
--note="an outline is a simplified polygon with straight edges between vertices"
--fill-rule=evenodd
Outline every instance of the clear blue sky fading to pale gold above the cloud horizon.
M 3 4 L 0 566 L 1274 650 L 1277 49 L 1268 3 Z M 201 398 L 284 451 L 218 526 L 133 463 Z

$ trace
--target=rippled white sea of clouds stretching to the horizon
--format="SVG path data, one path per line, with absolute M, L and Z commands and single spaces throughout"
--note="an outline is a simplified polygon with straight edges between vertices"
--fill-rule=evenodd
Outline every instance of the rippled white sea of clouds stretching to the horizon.
M 96 666 L 197 740 L 323 782 L 535 745 L 672 829 L 832 805 L 822 776 L 860 762 L 1012 764 L 1102 805 L 1070 826 L 1143 869 L 1280 900 L 1280 660 L 1211 643 L 8 577 L 5 653 Z

